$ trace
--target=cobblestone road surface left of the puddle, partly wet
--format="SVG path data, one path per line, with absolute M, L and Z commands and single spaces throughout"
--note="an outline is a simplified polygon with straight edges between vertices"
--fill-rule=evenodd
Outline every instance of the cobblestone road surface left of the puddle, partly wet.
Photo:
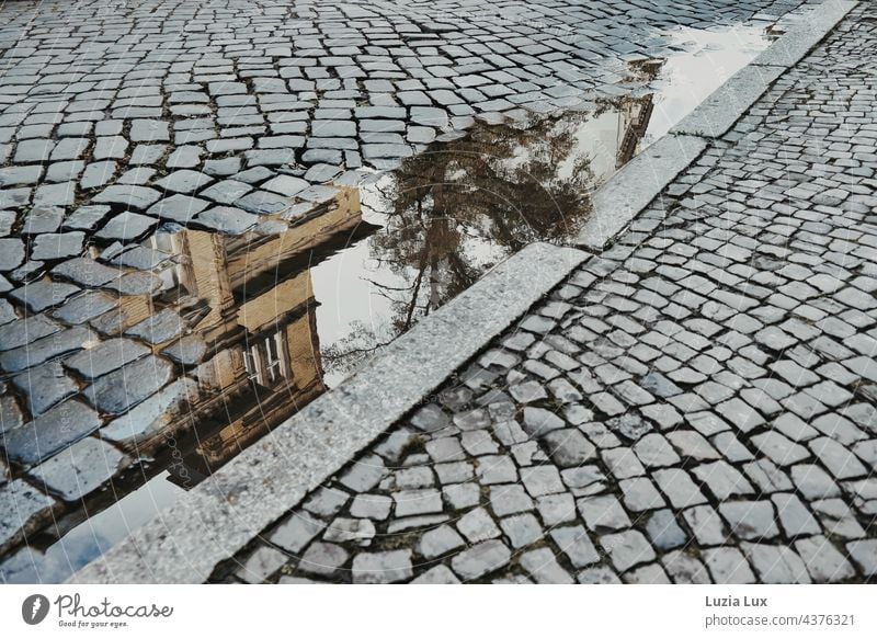
M 180 254 L 198 271 L 228 236 L 307 236 L 361 169 L 474 116 L 616 95 L 626 62 L 676 46 L 661 30 L 798 4 L 0 4 L 0 555 L 213 400 L 191 331 L 234 299 L 170 299 Z M 161 225 L 216 235 L 143 246 Z

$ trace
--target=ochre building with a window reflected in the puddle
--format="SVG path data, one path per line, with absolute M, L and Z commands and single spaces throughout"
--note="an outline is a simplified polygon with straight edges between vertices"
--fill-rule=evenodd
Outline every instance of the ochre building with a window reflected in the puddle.
M 172 264 L 160 272 L 153 311 L 173 307 L 186 317 L 185 339 L 205 354 L 184 366 L 196 387 L 162 415 L 167 426 L 125 446 L 156 455 L 187 489 L 318 397 L 324 387 L 310 262 L 361 221 L 358 193 L 344 189 L 331 209 L 281 232 L 151 237 Z M 173 449 L 185 451 L 182 458 L 162 449 L 169 437 L 179 437 Z

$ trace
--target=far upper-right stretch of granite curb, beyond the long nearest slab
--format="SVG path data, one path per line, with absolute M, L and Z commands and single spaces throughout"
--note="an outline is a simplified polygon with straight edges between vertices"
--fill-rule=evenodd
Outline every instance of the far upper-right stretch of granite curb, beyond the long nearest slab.
M 772 43 L 670 133 L 622 168 L 594 193 L 591 219 L 576 244 L 592 252 L 605 250 L 673 178 L 691 166 L 711 140 L 728 133 L 771 84 L 812 50 L 857 3 L 827 0 L 820 4 L 808 23 Z

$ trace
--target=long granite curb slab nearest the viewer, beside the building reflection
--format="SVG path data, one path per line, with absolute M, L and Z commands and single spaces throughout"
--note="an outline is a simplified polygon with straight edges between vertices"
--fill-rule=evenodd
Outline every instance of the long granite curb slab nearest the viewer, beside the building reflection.
M 588 258 L 527 246 L 67 582 L 204 582 Z

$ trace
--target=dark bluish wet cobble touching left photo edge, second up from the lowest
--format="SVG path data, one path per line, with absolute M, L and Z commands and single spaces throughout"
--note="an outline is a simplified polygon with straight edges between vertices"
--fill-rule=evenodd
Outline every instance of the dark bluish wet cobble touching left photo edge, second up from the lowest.
M 71 399 L 30 423 L 5 433 L 3 447 L 10 460 L 32 466 L 88 436 L 101 426 L 98 412 Z

